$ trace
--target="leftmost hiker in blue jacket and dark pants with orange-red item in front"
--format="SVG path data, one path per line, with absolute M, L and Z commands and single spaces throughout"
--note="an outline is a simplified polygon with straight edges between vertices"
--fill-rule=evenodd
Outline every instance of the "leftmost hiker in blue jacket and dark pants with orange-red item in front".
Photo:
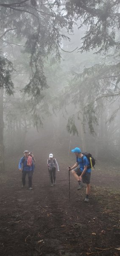
M 28 175 L 28 188 L 32 190 L 32 174 L 34 171 L 34 163 L 32 157 L 29 156 L 29 151 L 24 151 L 24 157 L 20 159 L 19 171 L 22 171 L 22 188 L 25 186 L 25 177 Z

